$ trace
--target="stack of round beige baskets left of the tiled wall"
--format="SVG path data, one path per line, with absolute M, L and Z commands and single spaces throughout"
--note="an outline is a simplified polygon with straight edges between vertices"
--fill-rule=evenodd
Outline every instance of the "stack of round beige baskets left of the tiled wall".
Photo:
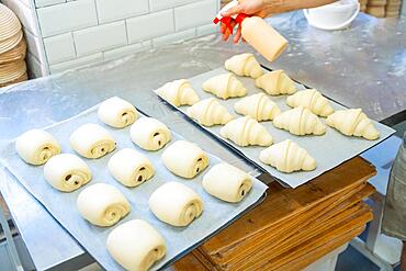
M 16 15 L 0 3 L 0 87 L 27 79 L 26 44 Z

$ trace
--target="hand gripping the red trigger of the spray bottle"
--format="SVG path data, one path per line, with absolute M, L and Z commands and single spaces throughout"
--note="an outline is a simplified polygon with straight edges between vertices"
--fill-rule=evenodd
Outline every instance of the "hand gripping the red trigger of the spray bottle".
M 264 0 L 240 0 L 239 3 L 229 9 L 228 11 L 222 13 L 223 16 L 230 16 L 238 13 L 246 13 L 248 15 L 252 16 L 260 16 L 264 18 L 269 15 L 268 12 L 268 4 L 266 4 Z M 235 22 L 232 23 L 232 27 L 234 29 L 236 25 Z M 230 31 L 227 29 L 225 24 L 222 23 L 221 33 L 223 34 L 223 39 L 227 41 L 230 36 Z M 233 37 L 234 43 L 238 43 L 238 41 L 241 38 L 241 26 L 238 25 L 237 32 Z M 243 39 L 244 41 L 244 39 Z

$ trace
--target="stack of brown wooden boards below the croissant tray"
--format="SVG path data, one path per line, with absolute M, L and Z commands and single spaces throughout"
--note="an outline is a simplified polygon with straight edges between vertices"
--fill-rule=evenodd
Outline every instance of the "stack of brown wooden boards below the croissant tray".
M 375 169 L 360 157 L 297 189 L 272 182 L 263 203 L 179 260 L 173 270 L 300 270 L 372 219 Z

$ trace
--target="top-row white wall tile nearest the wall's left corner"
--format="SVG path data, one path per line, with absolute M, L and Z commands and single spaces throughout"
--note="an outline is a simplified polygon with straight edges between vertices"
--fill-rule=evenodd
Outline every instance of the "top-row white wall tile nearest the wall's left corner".
M 37 9 L 43 37 L 98 24 L 94 0 L 77 0 Z

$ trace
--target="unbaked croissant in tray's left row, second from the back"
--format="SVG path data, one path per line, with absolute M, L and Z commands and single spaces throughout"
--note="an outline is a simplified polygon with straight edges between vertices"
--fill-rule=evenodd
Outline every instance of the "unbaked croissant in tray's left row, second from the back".
M 202 100 L 188 109 L 188 115 L 204 126 L 226 124 L 233 120 L 227 109 L 214 98 Z

